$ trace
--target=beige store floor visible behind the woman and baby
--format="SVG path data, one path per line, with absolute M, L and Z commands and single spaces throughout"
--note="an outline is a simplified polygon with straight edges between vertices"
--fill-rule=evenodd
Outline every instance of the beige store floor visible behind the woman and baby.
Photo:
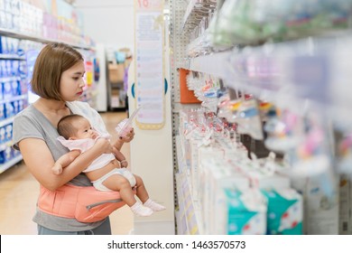
M 114 134 L 118 122 L 126 117 L 125 112 L 102 113 L 107 130 Z M 112 137 L 114 141 L 116 136 Z M 130 147 L 123 146 L 127 161 L 130 164 Z M 2 235 L 35 235 L 36 224 L 32 222 L 35 211 L 35 201 L 38 196 L 39 186 L 28 173 L 23 163 L 0 173 L 0 234 Z M 125 235 L 133 230 L 134 218 L 129 207 L 125 206 L 115 211 L 111 216 L 113 234 Z

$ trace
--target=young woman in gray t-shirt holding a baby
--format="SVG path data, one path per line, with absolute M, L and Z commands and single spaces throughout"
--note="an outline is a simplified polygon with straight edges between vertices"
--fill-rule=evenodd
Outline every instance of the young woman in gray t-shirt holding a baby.
M 65 43 L 48 43 L 39 53 L 32 73 L 32 92 L 40 98 L 14 118 L 14 148 L 21 151 L 24 163 L 35 179 L 50 191 L 56 191 L 66 183 L 90 186 L 87 176 L 81 172 L 99 155 L 111 153 L 113 149 L 107 139 L 101 138 L 62 173 L 51 172 L 55 161 L 69 152 L 57 141 L 56 126 L 61 117 L 79 114 L 87 117 L 99 132 L 107 132 L 97 111 L 88 103 L 77 101 L 85 86 L 84 74 L 84 60 L 79 52 Z M 120 150 L 133 137 L 134 132 L 113 145 Z M 33 221 L 38 224 L 40 235 L 111 234 L 108 218 L 83 223 L 37 209 Z

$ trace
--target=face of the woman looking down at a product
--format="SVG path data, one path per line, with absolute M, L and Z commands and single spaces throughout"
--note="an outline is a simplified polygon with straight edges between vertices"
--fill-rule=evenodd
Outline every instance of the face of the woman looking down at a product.
M 86 83 L 83 80 L 85 73 L 84 62 L 79 61 L 69 70 L 63 71 L 60 80 L 60 94 L 65 101 L 77 100 L 83 93 Z

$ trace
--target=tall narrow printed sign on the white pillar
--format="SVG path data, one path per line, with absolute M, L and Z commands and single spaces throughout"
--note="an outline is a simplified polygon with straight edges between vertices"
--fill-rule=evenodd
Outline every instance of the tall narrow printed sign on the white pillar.
M 163 1 L 135 0 L 134 91 L 136 108 L 142 108 L 136 125 L 160 129 L 164 125 Z

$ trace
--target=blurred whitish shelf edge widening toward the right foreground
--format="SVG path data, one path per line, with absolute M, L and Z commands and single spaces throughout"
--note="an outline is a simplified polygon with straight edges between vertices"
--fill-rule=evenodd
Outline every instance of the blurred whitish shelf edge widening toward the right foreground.
M 332 118 L 352 107 L 350 33 L 218 52 L 183 62 L 188 70 L 225 80 L 257 98 L 303 113 L 303 106 Z

